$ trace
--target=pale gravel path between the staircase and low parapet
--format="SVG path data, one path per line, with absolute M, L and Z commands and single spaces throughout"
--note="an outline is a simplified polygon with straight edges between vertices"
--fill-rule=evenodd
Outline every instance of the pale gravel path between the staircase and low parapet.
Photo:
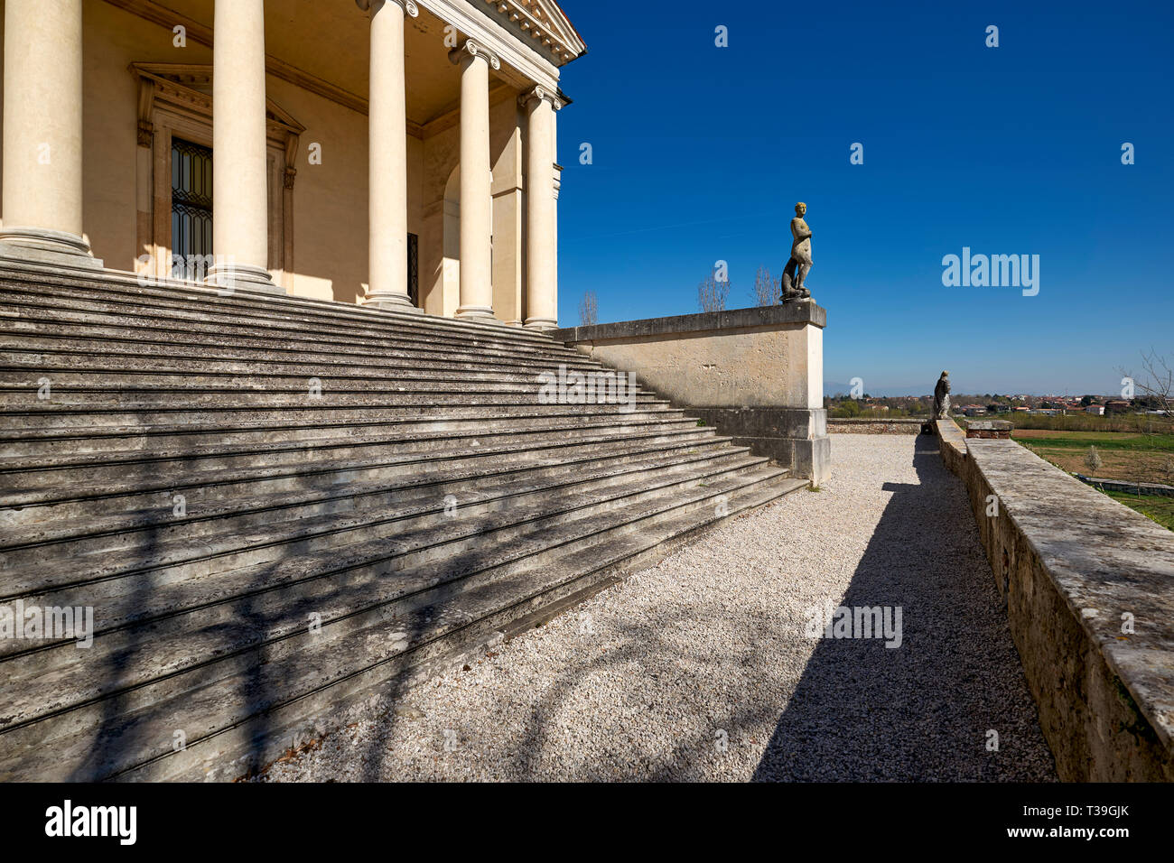
M 723 525 L 258 778 L 1054 781 L 933 443 L 837 434 L 832 458 L 822 491 Z M 808 638 L 828 602 L 899 607 L 899 647 Z

